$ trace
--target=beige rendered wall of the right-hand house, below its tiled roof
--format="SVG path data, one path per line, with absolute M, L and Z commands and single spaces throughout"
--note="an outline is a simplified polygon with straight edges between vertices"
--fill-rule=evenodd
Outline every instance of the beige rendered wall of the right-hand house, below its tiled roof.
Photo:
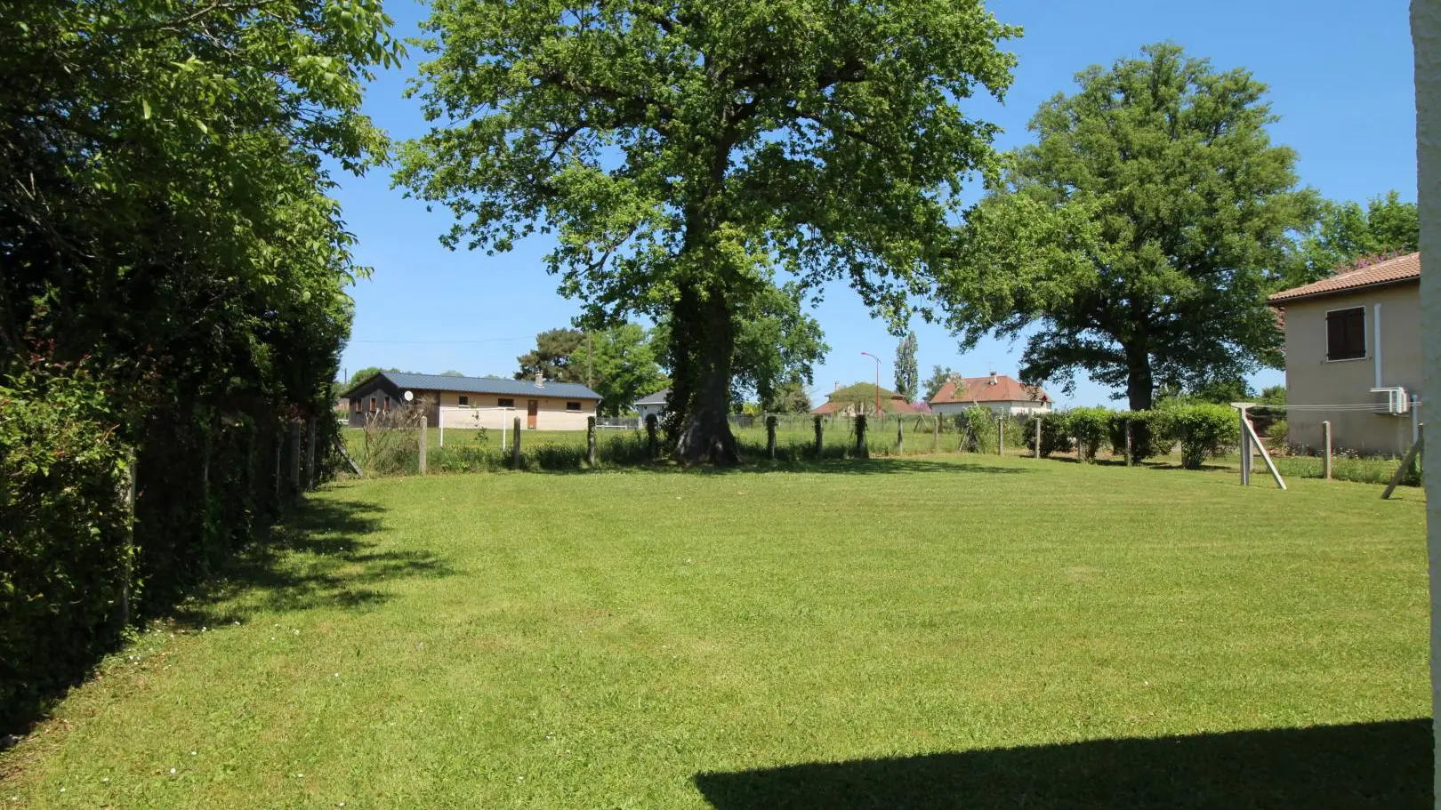
M 1417 284 L 1360 290 L 1285 304 L 1285 396 L 1288 405 L 1373 405 L 1372 388 L 1399 385 L 1419 393 L 1421 298 Z M 1376 306 L 1380 306 L 1380 383 L 1376 372 Z M 1366 356 L 1326 359 L 1326 313 L 1366 308 Z M 1365 411 L 1288 411 L 1291 444 L 1319 447 L 1321 422 L 1331 422 L 1336 448 L 1398 455 L 1411 447 L 1411 417 Z

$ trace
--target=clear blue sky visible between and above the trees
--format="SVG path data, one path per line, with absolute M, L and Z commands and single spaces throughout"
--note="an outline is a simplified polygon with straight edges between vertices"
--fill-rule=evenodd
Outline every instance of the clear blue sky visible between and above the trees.
M 1417 193 L 1415 95 L 1411 32 L 1405 0 L 1000 0 L 991 12 L 1025 27 L 1006 43 L 1020 63 L 1004 104 L 976 99 L 968 114 L 997 123 L 997 146 L 1030 140 L 1026 123 L 1050 95 L 1074 89 L 1074 75 L 1088 65 L 1108 65 L 1143 45 L 1172 40 L 1221 69 L 1244 66 L 1271 88 L 1281 117 L 1275 143 L 1300 153 L 1301 182 L 1333 199 L 1365 200 L 1398 189 Z M 425 17 L 418 0 L 388 0 L 396 33 L 412 36 Z M 376 78 L 366 111 L 396 140 L 425 131 L 416 101 L 402 98 L 403 69 Z M 356 320 L 342 365 L 396 366 L 416 372 L 458 369 L 467 375 L 509 375 L 516 356 L 533 346 L 537 331 L 566 326 L 575 301 L 556 293 L 540 258 L 543 238 L 496 257 L 447 251 L 438 242 L 450 215 L 427 213 L 424 203 L 391 189 L 386 170 L 343 177 L 336 195 L 359 238 L 356 257 L 375 268 L 352 294 Z M 872 320 L 857 295 L 837 284 L 813 310 L 826 330 L 830 355 L 816 370 L 814 399 L 836 383 L 873 379 L 879 355 L 882 385 L 892 379 L 896 339 Z M 922 376 L 932 365 L 965 375 L 1016 373 L 1020 344 L 986 340 L 961 353 L 942 327 L 916 321 Z M 1255 385 L 1282 382 L 1262 372 Z M 1053 389 L 1062 404 L 1111 404 L 1112 391 L 1084 376 L 1072 396 Z

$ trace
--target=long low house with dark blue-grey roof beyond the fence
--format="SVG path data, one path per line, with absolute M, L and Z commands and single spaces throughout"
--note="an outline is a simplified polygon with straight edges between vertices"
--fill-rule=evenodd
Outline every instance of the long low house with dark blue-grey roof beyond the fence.
M 520 417 L 527 430 L 582 431 L 601 402 L 601 395 L 584 385 L 548 382 L 539 375 L 499 379 L 378 372 L 342 393 L 349 401 L 349 424 L 365 427 L 369 414 L 402 406 L 406 392 L 422 404 L 431 425 L 440 424 L 445 409 L 445 427 L 455 428 L 500 428 Z

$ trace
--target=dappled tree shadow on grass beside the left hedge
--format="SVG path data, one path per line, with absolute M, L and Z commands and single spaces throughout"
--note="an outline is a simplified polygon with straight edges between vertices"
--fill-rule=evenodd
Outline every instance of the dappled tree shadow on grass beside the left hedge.
M 241 621 L 249 611 L 365 608 L 389 600 L 378 585 L 409 577 L 450 577 L 425 551 L 378 551 L 375 503 L 346 497 L 305 500 L 259 540 L 239 552 L 171 613 L 182 626 Z

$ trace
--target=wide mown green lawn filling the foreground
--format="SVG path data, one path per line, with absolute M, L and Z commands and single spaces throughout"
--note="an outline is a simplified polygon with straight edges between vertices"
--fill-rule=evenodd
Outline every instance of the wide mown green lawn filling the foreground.
M 1429 807 L 1422 493 L 1291 486 L 337 484 L 0 754 L 0 806 Z

